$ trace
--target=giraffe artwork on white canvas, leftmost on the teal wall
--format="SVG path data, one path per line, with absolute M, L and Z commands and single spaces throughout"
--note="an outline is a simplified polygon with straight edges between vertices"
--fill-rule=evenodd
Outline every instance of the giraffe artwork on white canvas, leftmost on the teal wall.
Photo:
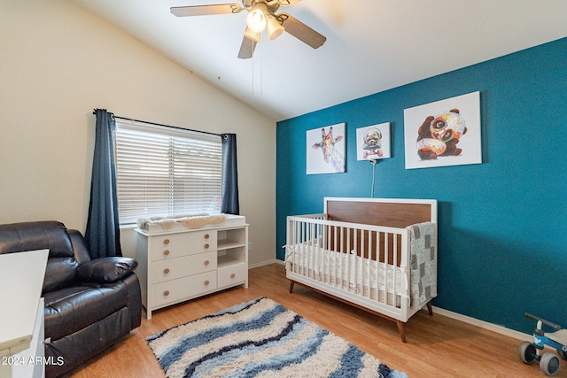
M 346 172 L 345 123 L 307 130 L 307 174 Z

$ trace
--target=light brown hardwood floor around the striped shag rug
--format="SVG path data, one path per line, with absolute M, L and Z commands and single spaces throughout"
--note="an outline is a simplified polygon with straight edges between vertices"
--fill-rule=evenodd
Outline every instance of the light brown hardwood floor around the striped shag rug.
M 419 312 L 406 324 L 408 343 L 402 343 L 396 324 L 368 312 L 324 297 L 300 285 L 289 293 L 283 265 L 250 270 L 248 289 L 235 288 L 190 300 L 152 313 L 151 320 L 109 351 L 75 369 L 67 378 L 164 377 L 145 337 L 237 305 L 266 296 L 342 336 L 384 364 L 409 377 L 545 377 L 537 365 L 527 366 L 517 357 L 517 339 L 471 326 L 459 320 Z M 145 316 L 145 313 L 143 314 Z M 558 377 L 567 376 L 562 359 Z

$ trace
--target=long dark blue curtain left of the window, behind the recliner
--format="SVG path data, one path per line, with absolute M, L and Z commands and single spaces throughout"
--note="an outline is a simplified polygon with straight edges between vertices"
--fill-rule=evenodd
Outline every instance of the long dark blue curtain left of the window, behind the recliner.
M 85 239 L 91 258 L 122 256 L 116 192 L 113 113 L 95 109 L 97 136 L 90 181 L 89 219 Z

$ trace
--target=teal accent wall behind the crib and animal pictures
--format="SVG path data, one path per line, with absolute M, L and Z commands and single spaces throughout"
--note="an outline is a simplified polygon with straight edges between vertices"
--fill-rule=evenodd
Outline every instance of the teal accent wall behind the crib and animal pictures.
M 457 50 L 458 52 L 458 50 Z M 483 164 L 405 169 L 404 109 L 480 91 Z M 306 174 L 307 130 L 346 122 L 346 173 Z M 277 123 L 277 258 L 285 217 L 370 197 L 356 128 L 391 122 L 374 197 L 439 201 L 433 305 L 531 333 L 567 327 L 567 38 Z

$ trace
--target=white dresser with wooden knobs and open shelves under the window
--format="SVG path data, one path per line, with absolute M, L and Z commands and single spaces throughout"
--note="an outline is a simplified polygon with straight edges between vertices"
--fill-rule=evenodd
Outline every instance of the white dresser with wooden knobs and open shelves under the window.
M 202 228 L 136 228 L 136 275 L 147 319 L 168 305 L 237 285 L 248 288 L 248 225 L 228 215 Z

